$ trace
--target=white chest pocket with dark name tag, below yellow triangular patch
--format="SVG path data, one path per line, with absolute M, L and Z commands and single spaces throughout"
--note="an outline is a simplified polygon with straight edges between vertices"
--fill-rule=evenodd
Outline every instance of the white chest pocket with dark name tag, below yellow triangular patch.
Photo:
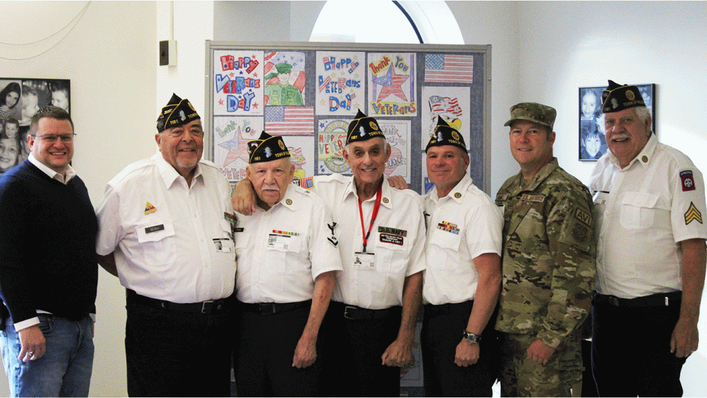
M 153 219 L 140 224 L 136 234 L 148 264 L 169 265 L 177 259 L 177 238 L 171 220 Z

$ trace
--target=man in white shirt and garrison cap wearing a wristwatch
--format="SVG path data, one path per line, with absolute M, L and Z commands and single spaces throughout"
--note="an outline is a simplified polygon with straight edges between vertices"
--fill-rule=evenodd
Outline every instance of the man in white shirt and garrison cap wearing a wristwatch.
M 469 154 L 457 130 L 440 119 L 425 152 L 435 184 L 424 198 L 425 395 L 491 397 L 498 370 L 493 310 L 501 292 L 503 216 L 469 178 Z

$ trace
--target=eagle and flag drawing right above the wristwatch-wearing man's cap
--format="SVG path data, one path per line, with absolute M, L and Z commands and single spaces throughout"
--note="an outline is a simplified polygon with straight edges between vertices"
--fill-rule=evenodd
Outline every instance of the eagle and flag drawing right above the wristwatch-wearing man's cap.
M 435 131 L 438 118 L 443 118 L 448 125 L 457 129 L 469 148 L 470 96 L 469 87 L 422 87 L 422 149 L 425 149 L 430 135 Z

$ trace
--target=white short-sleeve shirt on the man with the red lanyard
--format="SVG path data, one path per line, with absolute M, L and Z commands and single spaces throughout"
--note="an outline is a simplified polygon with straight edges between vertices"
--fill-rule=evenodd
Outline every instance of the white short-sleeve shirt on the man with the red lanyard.
M 337 276 L 332 300 L 368 309 L 402 305 L 405 277 L 423 271 L 425 225 L 420 195 L 397 190 L 385 181 L 378 217 L 370 229 L 366 251 L 375 254 L 373 268 L 354 265 L 363 251 L 363 231 L 353 177 L 332 174 L 315 176 L 314 188 L 332 211 L 339 230 L 343 271 Z M 375 195 L 361 204 L 368 231 Z

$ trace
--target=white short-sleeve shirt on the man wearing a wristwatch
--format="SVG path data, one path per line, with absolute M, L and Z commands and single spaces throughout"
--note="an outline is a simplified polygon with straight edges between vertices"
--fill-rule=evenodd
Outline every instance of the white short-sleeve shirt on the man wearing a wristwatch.
M 501 256 L 501 210 L 489 195 L 474 186 L 468 174 L 443 198 L 433 188 L 424 204 L 424 302 L 440 305 L 474 300 L 479 282 L 474 258 L 486 253 Z

